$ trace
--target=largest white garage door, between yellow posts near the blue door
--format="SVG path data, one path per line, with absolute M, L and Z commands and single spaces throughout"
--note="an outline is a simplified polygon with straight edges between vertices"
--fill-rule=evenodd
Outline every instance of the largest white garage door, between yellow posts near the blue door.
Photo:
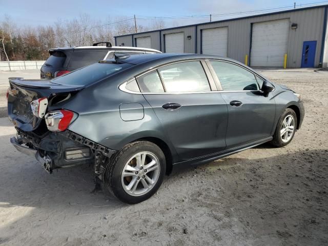
M 253 24 L 251 66 L 283 66 L 283 56 L 287 53 L 289 25 L 289 19 Z

